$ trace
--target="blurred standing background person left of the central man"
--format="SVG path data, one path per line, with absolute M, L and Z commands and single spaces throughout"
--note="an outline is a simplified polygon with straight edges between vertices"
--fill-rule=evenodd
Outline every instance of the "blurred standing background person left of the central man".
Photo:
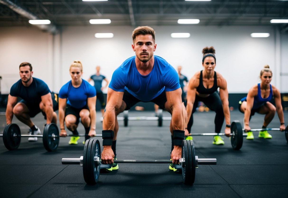
M 105 89 L 108 84 L 109 81 L 107 80 L 107 78 L 105 78 L 105 76 L 100 74 L 100 66 L 96 66 L 96 74 L 92 75 L 89 79 L 88 82 L 90 82 L 91 80 L 94 81 L 94 87 L 96 89 L 96 98 L 97 100 L 100 101 L 101 104 L 101 113 L 102 113 L 102 117 L 104 116 L 104 109 L 105 109 L 105 101 L 104 101 L 104 94 L 103 94 L 103 89 Z M 106 85 L 104 87 L 102 87 L 102 81 L 106 81 Z

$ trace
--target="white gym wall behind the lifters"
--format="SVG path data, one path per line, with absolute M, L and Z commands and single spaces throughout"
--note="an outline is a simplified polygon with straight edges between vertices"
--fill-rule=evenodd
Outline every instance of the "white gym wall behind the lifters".
M 202 69 L 202 48 L 216 49 L 216 69 L 227 80 L 229 93 L 247 93 L 259 82 L 260 70 L 269 64 L 273 71 L 272 84 L 287 93 L 288 35 L 273 26 L 154 26 L 157 48 L 154 52 L 172 66 L 182 66 L 189 79 Z M 62 27 L 51 35 L 36 27 L 1 27 L 1 93 L 8 94 L 19 80 L 19 64 L 28 61 L 34 77 L 45 81 L 56 93 L 69 81 L 69 66 L 73 60 L 82 61 L 83 79 L 95 72 L 111 79 L 113 71 L 134 55 L 129 26 Z M 171 38 L 174 32 L 188 32 L 190 38 Z M 268 38 L 251 38 L 254 32 L 270 33 Z M 113 33 L 113 38 L 95 38 L 95 33 Z M 105 90 L 104 92 L 106 92 Z

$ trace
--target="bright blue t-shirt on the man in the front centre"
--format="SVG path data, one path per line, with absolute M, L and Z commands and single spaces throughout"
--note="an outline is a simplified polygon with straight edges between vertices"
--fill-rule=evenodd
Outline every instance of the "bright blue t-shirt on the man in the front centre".
M 143 76 L 136 68 L 135 57 L 128 58 L 114 71 L 109 88 L 122 92 L 126 89 L 132 96 L 143 102 L 156 98 L 163 91 L 180 88 L 178 74 L 166 60 L 154 56 L 152 71 Z

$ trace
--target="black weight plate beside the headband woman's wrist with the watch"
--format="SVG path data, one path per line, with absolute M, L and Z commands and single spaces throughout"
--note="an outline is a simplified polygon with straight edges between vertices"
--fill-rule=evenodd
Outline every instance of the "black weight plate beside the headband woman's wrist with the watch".
M 234 150 L 239 150 L 243 144 L 243 130 L 241 123 L 239 121 L 234 121 L 231 124 L 231 133 L 234 135 L 231 136 L 231 145 Z

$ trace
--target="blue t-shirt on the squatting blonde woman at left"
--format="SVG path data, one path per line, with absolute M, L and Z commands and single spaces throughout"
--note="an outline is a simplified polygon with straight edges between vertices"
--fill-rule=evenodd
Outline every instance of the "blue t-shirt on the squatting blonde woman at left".
M 83 79 L 79 87 L 73 87 L 72 82 L 69 81 L 59 91 L 59 98 L 67 98 L 67 104 L 76 109 L 84 107 L 87 98 L 94 96 L 96 96 L 95 88 Z

